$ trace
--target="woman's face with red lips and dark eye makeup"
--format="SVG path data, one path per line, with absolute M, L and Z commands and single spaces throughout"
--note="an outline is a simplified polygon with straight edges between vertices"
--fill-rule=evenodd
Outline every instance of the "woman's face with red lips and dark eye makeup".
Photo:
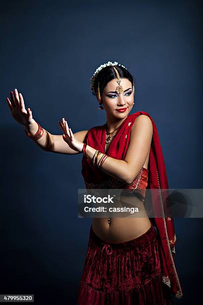
M 118 86 L 117 78 L 112 79 L 107 83 L 102 92 L 102 106 L 106 113 L 110 116 L 115 116 L 117 118 L 124 118 L 131 111 L 134 96 L 132 93 L 132 84 L 127 78 L 120 79 L 120 85 L 122 86 L 124 92 L 116 93 L 115 89 Z M 117 110 L 127 108 L 124 112 L 119 112 Z

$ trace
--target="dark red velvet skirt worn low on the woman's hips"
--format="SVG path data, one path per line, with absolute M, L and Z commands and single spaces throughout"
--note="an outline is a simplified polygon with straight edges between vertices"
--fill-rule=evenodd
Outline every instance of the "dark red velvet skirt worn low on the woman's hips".
M 78 305 L 171 305 L 162 282 L 154 227 L 122 243 L 107 243 L 91 226 Z

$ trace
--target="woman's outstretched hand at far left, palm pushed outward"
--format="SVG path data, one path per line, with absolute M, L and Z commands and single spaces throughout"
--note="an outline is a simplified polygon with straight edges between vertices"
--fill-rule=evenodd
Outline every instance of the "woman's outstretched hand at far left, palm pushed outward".
M 8 107 L 10 109 L 11 116 L 19 124 L 29 127 L 35 121 L 32 118 L 32 112 L 30 108 L 25 109 L 24 100 L 22 94 L 17 92 L 17 89 L 10 92 L 10 100 L 6 98 Z

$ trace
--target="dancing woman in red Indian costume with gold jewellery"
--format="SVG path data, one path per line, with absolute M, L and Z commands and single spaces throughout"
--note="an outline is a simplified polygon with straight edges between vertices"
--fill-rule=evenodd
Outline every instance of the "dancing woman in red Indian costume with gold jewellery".
M 83 153 L 87 189 L 131 190 L 142 210 L 143 217 L 93 219 L 78 305 L 172 304 L 171 293 L 182 297 L 174 265 L 173 219 L 164 214 L 149 219 L 144 207 L 146 188 L 168 188 L 156 126 L 145 112 L 129 114 L 134 105 L 134 81 L 117 62 L 96 70 L 91 89 L 99 109 L 105 109 L 106 123 L 73 134 L 63 118 L 59 122 L 62 136 L 50 134 L 33 120 L 16 89 L 6 99 L 13 118 L 43 150 Z M 162 200 L 159 204 L 162 211 Z M 153 195 L 152 206 L 157 209 Z

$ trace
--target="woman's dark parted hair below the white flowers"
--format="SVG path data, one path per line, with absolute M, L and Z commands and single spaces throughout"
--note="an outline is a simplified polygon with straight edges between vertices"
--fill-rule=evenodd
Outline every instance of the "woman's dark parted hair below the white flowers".
M 122 66 L 114 66 L 116 70 L 118 71 L 118 74 L 120 78 L 127 78 L 133 85 L 133 77 L 125 68 Z M 104 67 L 96 76 L 95 83 L 94 83 L 94 92 L 93 95 L 97 94 L 98 90 L 98 83 L 100 83 L 100 95 L 102 95 L 103 89 L 107 85 L 109 81 L 116 78 L 115 71 L 112 66 L 106 66 Z

